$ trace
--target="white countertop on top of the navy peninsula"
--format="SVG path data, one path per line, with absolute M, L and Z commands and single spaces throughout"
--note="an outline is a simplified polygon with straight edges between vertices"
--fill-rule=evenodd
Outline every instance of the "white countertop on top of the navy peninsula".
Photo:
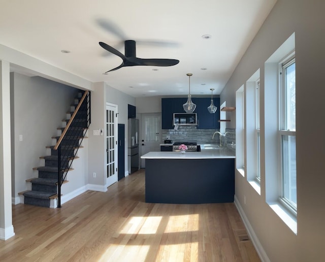
M 149 152 L 141 156 L 142 159 L 209 159 L 209 158 L 236 158 L 229 149 L 202 150 L 201 152 Z

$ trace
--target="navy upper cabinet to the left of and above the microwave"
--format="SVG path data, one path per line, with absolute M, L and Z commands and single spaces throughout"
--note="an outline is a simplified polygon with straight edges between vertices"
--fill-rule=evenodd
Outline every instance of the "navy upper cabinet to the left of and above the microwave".
M 173 126 L 173 114 L 185 113 L 183 104 L 187 101 L 187 97 L 176 98 L 163 98 L 161 99 L 161 128 L 172 129 Z

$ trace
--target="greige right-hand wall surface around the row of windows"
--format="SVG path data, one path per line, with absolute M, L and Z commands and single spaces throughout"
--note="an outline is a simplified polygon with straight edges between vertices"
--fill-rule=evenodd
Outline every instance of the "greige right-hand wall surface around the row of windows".
M 277 48 L 295 32 L 296 37 L 296 126 L 298 234 L 295 235 L 266 203 L 265 172 L 261 195 L 236 172 L 236 198 L 266 257 L 271 261 L 323 261 L 325 232 L 325 2 L 278 0 L 222 91 L 221 103 L 235 105 L 235 92 L 261 69 Z M 264 86 L 261 85 L 262 88 Z M 261 144 L 263 146 L 264 90 L 261 89 Z M 234 128 L 235 121 L 228 124 Z M 261 154 L 263 156 L 263 154 Z M 262 171 L 265 159 L 262 159 Z M 275 174 L 276 175 L 276 174 Z M 244 196 L 246 204 L 244 204 Z

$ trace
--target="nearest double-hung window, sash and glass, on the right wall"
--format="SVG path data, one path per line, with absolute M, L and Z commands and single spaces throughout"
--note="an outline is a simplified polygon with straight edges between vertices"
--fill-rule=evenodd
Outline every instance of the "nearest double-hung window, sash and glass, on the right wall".
M 297 212 L 296 169 L 296 62 L 290 57 L 280 63 L 280 130 L 281 197 L 290 209 Z

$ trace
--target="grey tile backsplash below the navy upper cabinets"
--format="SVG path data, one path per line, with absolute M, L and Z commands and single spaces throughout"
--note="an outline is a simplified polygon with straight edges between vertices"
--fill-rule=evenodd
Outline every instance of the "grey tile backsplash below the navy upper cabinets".
M 170 136 L 173 142 L 197 142 L 198 144 L 219 144 L 219 135 L 216 134 L 212 140 L 213 133 L 219 129 L 197 129 L 196 126 L 180 125 L 177 130 L 163 129 L 163 141 Z M 226 144 L 236 145 L 235 129 L 228 128 L 226 132 Z M 223 139 L 223 138 L 222 138 Z M 224 141 L 222 141 L 224 142 Z M 235 146 L 231 146 L 234 148 Z

